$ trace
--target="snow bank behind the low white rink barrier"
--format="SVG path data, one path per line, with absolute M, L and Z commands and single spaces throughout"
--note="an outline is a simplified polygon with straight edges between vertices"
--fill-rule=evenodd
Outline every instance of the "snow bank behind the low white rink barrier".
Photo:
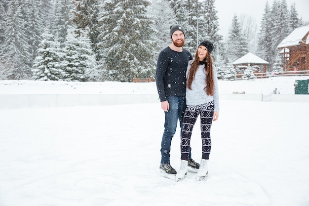
M 268 94 L 277 88 L 280 94 L 294 94 L 295 80 L 309 77 L 273 77 L 255 81 L 219 81 L 221 94 L 233 91 L 246 94 Z M 155 83 L 129 82 L 40 82 L 0 81 L 1 94 L 157 94 Z

